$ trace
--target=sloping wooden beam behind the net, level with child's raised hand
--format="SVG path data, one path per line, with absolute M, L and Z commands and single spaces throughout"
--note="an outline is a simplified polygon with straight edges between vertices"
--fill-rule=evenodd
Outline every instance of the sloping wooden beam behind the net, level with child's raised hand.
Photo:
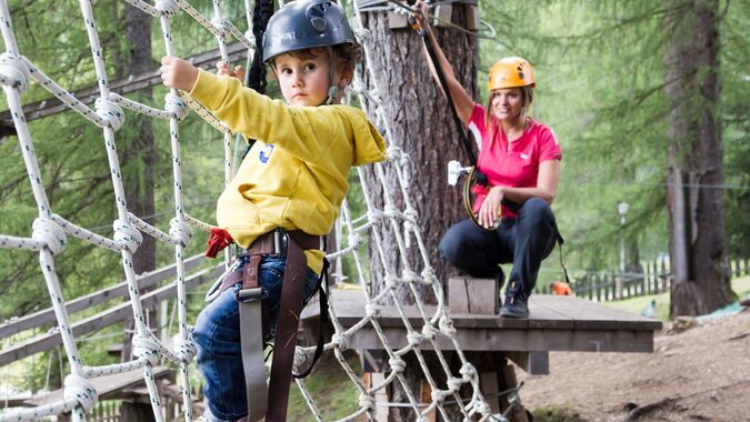
M 248 57 L 248 48 L 240 42 L 234 42 L 227 46 L 229 61 L 236 62 Z M 188 60 L 196 67 L 201 69 L 212 69 L 217 61 L 221 60 L 219 49 L 210 50 L 200 54 L 189 57 Z M 161 76 L 159 68 L 148 70 L 140 74 L 131 74 L 129 77 L 118 79 L 110 82 L 110 90 L 112 92 L 124 96 L 127 93 L 136 92 L 146 88 L 161 84 Z M 72 94 L 86 104 L 93 103 L 99 98 L 99 86 L 83 88 L 72 92 Z M 68 111 L 70 108 L 62 103 L 57 97 L 49 97 L 40 101 L 26 104 L 23 107 L 23 114 L 27 121 L 46 118 Z M 10 110 L 0 112 L 0 133 L 2 135 L 16 134 L 16 127 Z

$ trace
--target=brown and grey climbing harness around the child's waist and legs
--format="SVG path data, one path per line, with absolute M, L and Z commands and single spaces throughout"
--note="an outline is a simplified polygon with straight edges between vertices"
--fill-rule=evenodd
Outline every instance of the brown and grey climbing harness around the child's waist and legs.
M 256 239 L 247 249 L 247 253 L 237 258 L 230 271 L 220 278 L 220 285 L 216 289 L 218 294 L 221 294 L 232 285 L 242 284 L 241 289 L 236 292 L 234 299 L 240 309 L 240 343 L 249 421 L 259 421 L 263 418 L 267 421 L 284 421 L 291 378 L 304 378 L 310 374 L 323 352 L 322 324 L 327 320 L 322 315 L 328 314 L 328 289 L 326 285 L 328 283 L 328 260 L 323 261 L 318 285 L 310 295 L 312 298 L 314 293 L 320 293 L 321 330 L 319 330 L 318 345 L 309 368 L 301 374 L 292 373 L 299 315 L 309 301 L 309 298 L 308 301 L 302 301 L 308 269 L 303 251 L 312 249 L 324 251 L 324 238 L 308 234 L 300 230 L 276 229 L 270 231 Z M 258 283 L 260 263 L 263 257 L 268 255 L 286 257 L 276 334 L 271 330 L 264 301 L 268 293 Z M 211 294 L 211 297 L 216 298 L 218 294 Z M 267 385 L 263 350 L 266 342 L 272 338 L 276 338 L 273 361 L 270 382 Z

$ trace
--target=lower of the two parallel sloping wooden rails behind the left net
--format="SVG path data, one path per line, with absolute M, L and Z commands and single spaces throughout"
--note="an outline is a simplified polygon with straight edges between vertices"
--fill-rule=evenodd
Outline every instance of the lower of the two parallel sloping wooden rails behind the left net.
M 213 281 L 223 272 L 223 264 L 220 264 L 213 269 L 206 269 L 193 275 L 190 275 L 186 279 L 187 289 L 190 290 L 197 285 Z M 173 298 L 177 298 L 177 285 L 171 283 L 142 295 L 141 304 L 143 308 L 150 308 L 164 300 Z M 130 301 L 122 302 L 117 307 L 108 309 L 107 311 L 78 321 L 71 324 L 71 330 L 73 335 L 78 338 L 83 334 L 96 332 L 104 326 L 111 325 L 128 318 L 132 318 Z M 14 344 L 0 351 L 0 366 L 16 362 L 26 356 L 30 356 L 34 353 L 43 352 L 60 344 L 62 344 L 62 339 L 58 332 L 38 335 L 20 344 Z

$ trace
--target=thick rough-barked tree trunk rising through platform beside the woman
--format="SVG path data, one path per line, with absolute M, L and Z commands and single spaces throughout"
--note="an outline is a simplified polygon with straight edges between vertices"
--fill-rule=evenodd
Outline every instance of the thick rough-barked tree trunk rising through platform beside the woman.
M 458 24 L 466 22 L 464 8 L 453 7 L 453 22 Z M 468 159 L 461 150 L 457 131 L 466 130 L 466 128 L 456 128 L 453 124 L 448 102 L 438 84 L 432 81 L 427 59 L 422 53 L 421 37 L 408 28 L 389 29 L 387 12 L 366 13 L 363 23 L 372 37 L 371 61 L 367 63 L 371 73 L 366 72 L 364 80 L 369 89 L 374 87 L 379 89 L 386 120 L 391 128 L 390 138 L 387 140 L 389 147 L 401 148 L 410 155 L 409 197 L 419 214 L 419 227 L 429 251 L 429 263 L 434 269 L 438 280 L 444 283 L 453 270 L 447 268 L 440 259 L 438 243 L 451 224 L 464 218 L 460 188 L 448 185 L 447 167 L 450 160 L 459 160 L 463 165 L 468 165 Z M 468 92 L 476 98 L 477 39 L 453 29 L 436 28 L 434 30 L 457 77 L 463 82 Z M 374 80 L 370 78 L 370 74 L 374 76 Z M 370 119 L 377 121 L 374 104 L 366 101 L 363 105 Z M 384 133 L 384 127 L 381 125 L 380 129 Z M 392 164 L 389 163 L 386 169 L 388 178 L 396 180 Z M 367 185 L 373 198 L 380 198 L 383 193 L 380 181 L 372 173 L 368 174 Z M 396 182 L 388 187 L 387 194 L 394 197 L 396 209 L 404 210 L 403 198 Z M 376 199 L 376 207 L 383 209 L 382 201 Z M 382 231 L 382 247 L 384 257 L 380 257 L 374 248 L 374 240 L 370 239 L 371 277 L 374 291 L 384 288 L 382 280 L 384 271 L 381 262 L 384 262 L 394 275 L 404 275 L 406 263 L 401 262 L 397 253 L 399 245 L 390 225 Z M 406 251 L 409 268 L 420 273 L 423 265 L 413 238 L 411 247 Z M 420 298 L 433 301 L 431 288 L 423 288 L 422 291 L 426 294 L 420 292 Z M 406 284 L 399 285 L 397 295 L 400 303 L 413 303 L 413 294 Z M 413 359 L 413 354 L 410 353 L 404 358 L 410 363 L 407 365 L 404 376 L 409 381 L 411 391 L 419 399 L 419 385 L 420 381 L 424 380 L 424 374 Z M 444 384 L 439 386 L 446 388 Z M 393 383 L 392 400 L 408 402 L 398 382 Z M 389 420 L 413 421 L 414 418 L 411 409 L 391 410 Z

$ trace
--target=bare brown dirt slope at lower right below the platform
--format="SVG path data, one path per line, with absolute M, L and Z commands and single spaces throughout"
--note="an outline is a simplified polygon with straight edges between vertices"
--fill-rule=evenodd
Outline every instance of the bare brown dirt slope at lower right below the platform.
M 537 421 L 750 421 L 750 311 L 668 322 L 653 349 L 552 352 L 549 375 L 518 370 L 523 404 Z

